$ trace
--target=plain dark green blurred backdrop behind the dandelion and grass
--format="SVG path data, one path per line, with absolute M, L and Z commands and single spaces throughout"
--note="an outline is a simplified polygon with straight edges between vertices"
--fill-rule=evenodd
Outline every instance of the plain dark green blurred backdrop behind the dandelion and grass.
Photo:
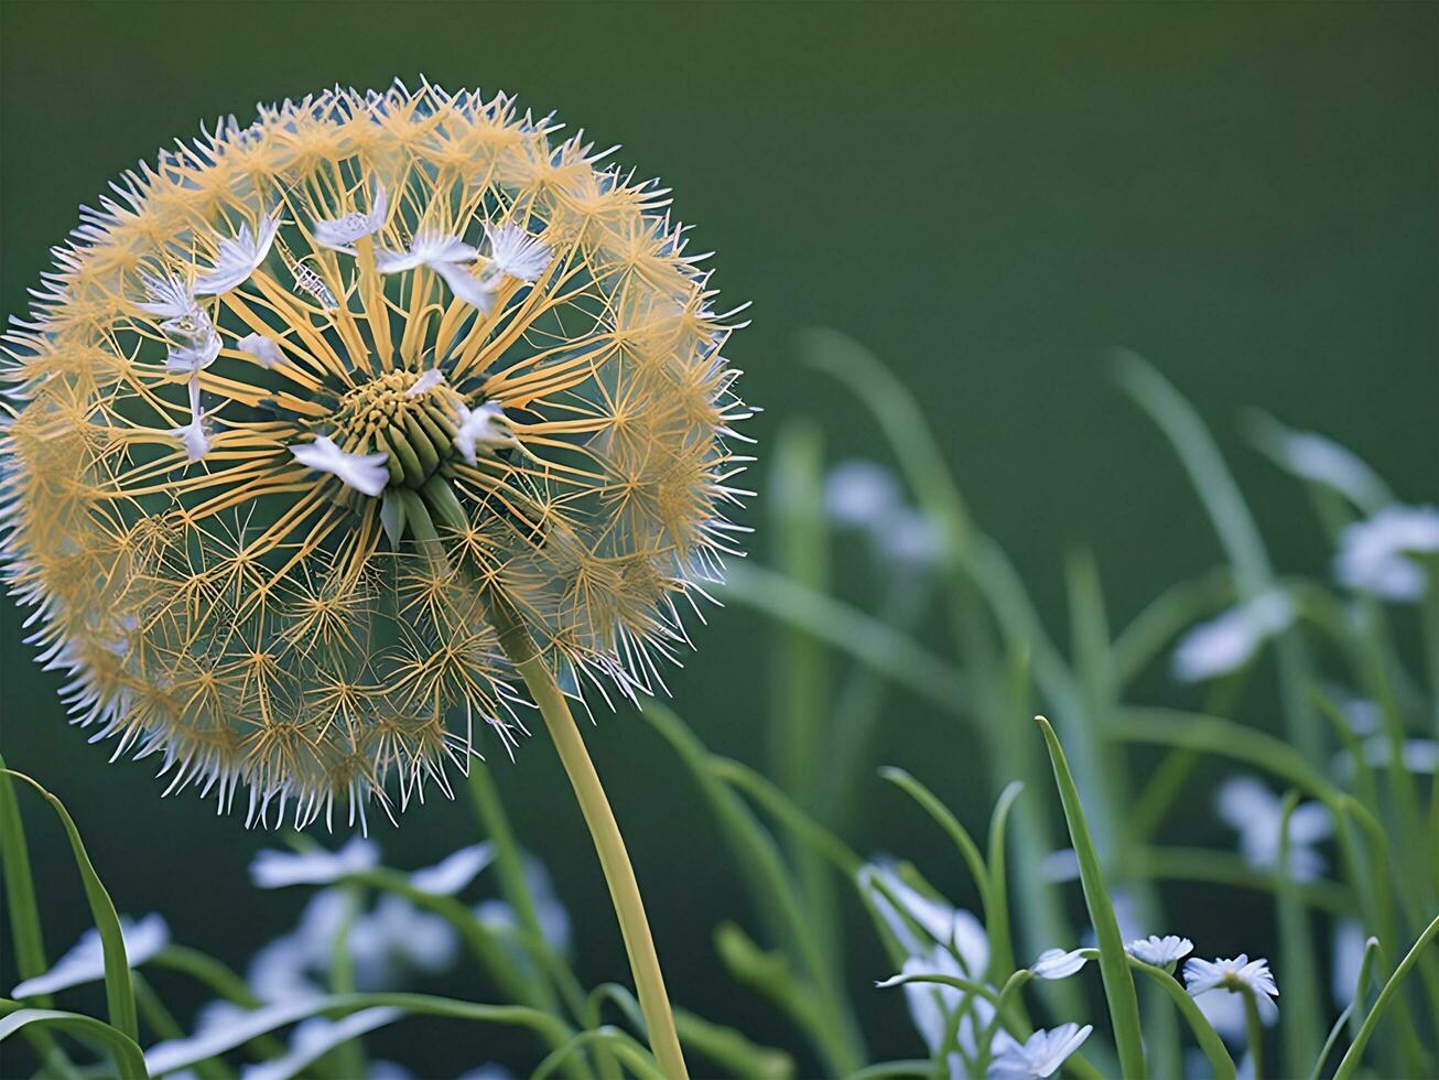
M 1436 4 L 7 0 L 0 33 L 4 311 L 23 310 L 78 204 L 200 118 L 423 73 L 555 108 L 673 187 L 696 249 L 720 252 L 725 298 L 754 301 L 731 356 L 766 408 L 761 455 L 796 416 L 823 426 L 835 458 L 882 454 L 793 343 L 830 325 L 873 347 L 927 403 L 977 517 L 1056 628 L 1076 546 L 1097 550 L 1118 621 L 1217 562 L 1168 451 L 1108 383 L 1112 346 L 1151 359 L 1215 422 L 1282 570 L 1324 573 L 1327 553 L 1302 494 L 1243 446 L 1243 406 L 1331 433 L 1402 495 L 1435 498 Z M 754 481 L 763 492 L 763 462 Z M 761 497 L 748 520 L 764 517 Z M 0 747 L 69 804 L 119 909 L 161 910 L 180 940 L 236 962 L 288 929 L 299 897 L 248 886 L 250 854 L 275 841 L 193 793 L 161 801 L 148 763 L 106 765 L 65 724 L 13 608 L 0 618 Z M 738 608 L 709 624 L 671 680 L 675 706 L 712 749 L 758 765 L 771 629 Z M 627 710 L 599 717 L 590 742 L 676 1001 L 791 1041 L 720 975 L 714 924 L 753 919 L 696 792 Z M 882 760 L 974 821 L 990 785 L 966 749 L 950 720 L 891 698 Z M 499 765 L 577 922 L 581 976 L 620 976 L 553 753 L 535 740 Z M 863 798 L 858 850 L 904 851 L 963 896 L 909 806 L 876 782 Z M 32 818 L 56 953 L 85 904 L 56 829 Z M 471 816 L 432 802 L 377 835 L 396 864 L 420 865 L 472 838 Z M 886 973 L 871 959 L 856 988 Z M 878 1053 L 920 1050 L 896 996 L 865 1008 Z M 505 1037 L 407 1024 L 397 1045 L 426 1071 L 527 1060 Z

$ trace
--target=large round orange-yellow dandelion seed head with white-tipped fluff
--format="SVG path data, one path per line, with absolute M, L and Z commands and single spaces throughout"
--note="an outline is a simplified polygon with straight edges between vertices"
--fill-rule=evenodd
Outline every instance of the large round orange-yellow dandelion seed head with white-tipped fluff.
M 353 821 L 522 730 L 496 621 L 570 693 L 684 645 L 738 530 L 737 324 L 666 190 L 560 128 L 335 89 L 82 209 L 4 338 L 0 552 L 117 756 Z

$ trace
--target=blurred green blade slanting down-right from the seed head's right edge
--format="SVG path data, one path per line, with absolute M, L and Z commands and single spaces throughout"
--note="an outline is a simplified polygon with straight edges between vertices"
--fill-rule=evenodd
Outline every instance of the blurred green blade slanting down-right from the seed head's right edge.
M 763 566 L 732 563 L 725 577 L 721 599 L 738 600 L 773 619 L 796 625 L 947 713 L 966 716 L 966 688 L 955 667 L 904 634 Z

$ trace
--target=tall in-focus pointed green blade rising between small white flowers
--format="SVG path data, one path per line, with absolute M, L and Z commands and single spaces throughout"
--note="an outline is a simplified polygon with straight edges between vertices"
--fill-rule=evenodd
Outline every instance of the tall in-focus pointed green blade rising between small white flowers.
M 1114 917 L 1114 903 L 1104 884 L 1099 868 L 1099 854 L 1089 837 L 1089 825 L 1079 805 L 1079 792 L 1069 763 L 1065 760 L 1059 736 L 1045 717 L 1035 717 L 1049 747 L 1049 760 L 1055 769 L 1055 783 L 1059 786 L 1059 801 L 1063 804 L 1065 822 L 1069 825 L 1069 841 L 1079 860 L 1079 884 L 1084 887 L 1085 907 L 1099 942 L 1099 973 L 1104 979 L 1104 996 L 1109 1005 L 1109 1022 L 1114 1027 L 1114 1043 L 1120 1051 L 1120 1070 L 1127 1080 L 1140 1080 L 1144 1073 L 1144 1044 L 1140 1037 L 1140 1002 L 1134 994 L 1134 978 L 1130 975 L 1128 955 L 1120 936 L 1120 923 Z

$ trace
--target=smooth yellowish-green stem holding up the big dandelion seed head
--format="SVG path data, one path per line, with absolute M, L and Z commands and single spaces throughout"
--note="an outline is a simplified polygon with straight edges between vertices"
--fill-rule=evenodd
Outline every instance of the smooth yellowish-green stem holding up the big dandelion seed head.
M 635 975 L 635 989 L 639 992 L 640 1012 L 649 1028 L 649 1044 L 659 1060 L 661 1070 L 671 1080 L 686 1080 L 685 1058 L 679 1053 L 679 1035 L 675 1031 L 675 1017 L 665 992 L 665 978 L 659 971 L 659 956 L 655 953 L 655 939 L 645 917 L 645 901 L 635 880 L 625 838 L 614 821 L 614 812 L 604 796 L 600 775 L 584 747 L 584 739 L 574 723 L 570 706 L 555 685 L 554 675 L 544 660 L 535 652 L 534 642 L 524 629 L 517 612 L 504 600 L 491 603 L 491 621 L 499 632 L 501 648 L 509 655 L 515 671 L 525 681 L 525 688 L 540 706 L 550 737 L 554 739 L 560 762 L 564 765 L 570 785 L 590 827 L 594 851 L 604 870 L 604 881 L 610 887 L 610 900 L 620 922 L 625 950 L 629 953 L 630 971 Z

